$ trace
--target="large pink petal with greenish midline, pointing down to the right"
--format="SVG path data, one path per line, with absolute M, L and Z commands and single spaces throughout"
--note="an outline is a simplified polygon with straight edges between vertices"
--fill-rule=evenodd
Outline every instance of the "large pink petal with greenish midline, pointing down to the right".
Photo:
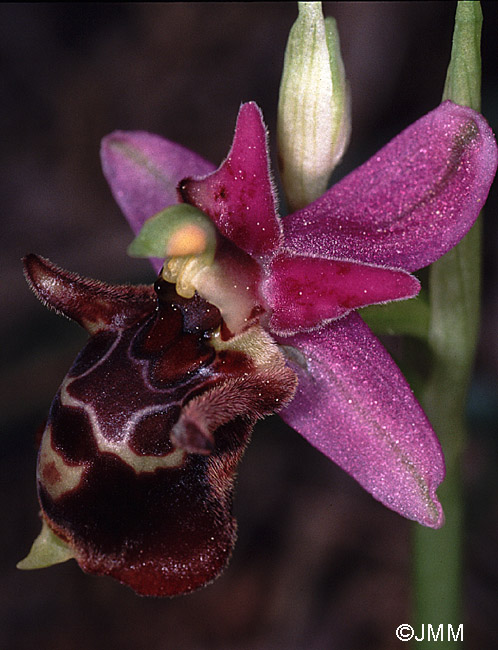
M 299 384 L 283 419 L 383 504 L 438 528 L 439 442 L 393 360 L 357 314 L 282 339 Z M 305 364 L 307 369 L 302 366 Z

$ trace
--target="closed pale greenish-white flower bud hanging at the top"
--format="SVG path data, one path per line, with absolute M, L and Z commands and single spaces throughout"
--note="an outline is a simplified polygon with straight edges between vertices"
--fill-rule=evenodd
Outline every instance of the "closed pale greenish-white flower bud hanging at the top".
M 327 189 L 350 134 L 350 102 L 339 35 L 320 2 L 300 2 L 289 34 L 278 104 L 280 174 L 289 210 Z

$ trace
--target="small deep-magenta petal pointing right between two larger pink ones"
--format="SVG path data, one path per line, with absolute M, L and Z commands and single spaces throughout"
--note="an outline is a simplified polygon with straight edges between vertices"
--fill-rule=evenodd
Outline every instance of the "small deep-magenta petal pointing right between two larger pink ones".
M 374 303 L 412 298 L 419 281 L 379 266 L 301 255 L 277 255 L 263 294 L 272 308 L 270 330 L 287 336 Z

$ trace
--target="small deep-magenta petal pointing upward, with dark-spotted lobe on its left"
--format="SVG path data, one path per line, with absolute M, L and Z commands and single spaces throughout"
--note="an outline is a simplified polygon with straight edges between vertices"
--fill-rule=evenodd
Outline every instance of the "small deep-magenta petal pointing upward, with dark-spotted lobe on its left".
M 243 104 L 232 148 L 219 169 L 186 179 L 183 199 L 211 217 L 219 231 L 250 255 L 267 255 L 280 243 L 266 128 L 254 102 Z

